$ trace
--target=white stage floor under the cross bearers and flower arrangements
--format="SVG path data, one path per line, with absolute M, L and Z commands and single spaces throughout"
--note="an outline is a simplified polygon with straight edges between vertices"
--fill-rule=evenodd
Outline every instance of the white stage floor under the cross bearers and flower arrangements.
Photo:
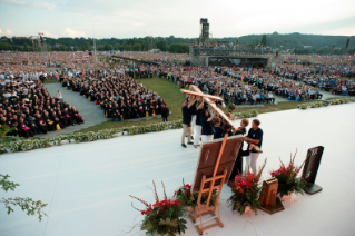
M 355 104 L 260 115 L 264 154 L 258 163 L 268 158 L 263 177 L 278 167 L 279 156 L 287 161 L 298 148 L 299 164 L 308 148 L 322 145 L 325 150 L 316 183 L 323 191 L 293 196 L 284 201 L 285 210 L 275 215 L 258 210 L 256 216 L 253 212 L 240 216 L 227 208 L 230 188 L 225 185 L 220 199 L 225 227 L 204 235 L 355 235 L 354 117 Z M 198 150 L 183 148 L 180 136 L 181 129 L 1 155 L 0 173 L 21 186 L 16 191 L 0 190 L 0 198 L 42 200 L 48 203 L 48 217 L 39 223 L 19 208 L 7 215 L 0 204 L 0 235 L 145 235 L 139 229 L 125 234 L 142 218 L 130 204 L 142 205 L 128 195 L 152 203 L 146 187 L 152 186 L 152 179 L 160 196 L 161 180 L 170 196 L 183 178 L 193 180 Z M 198 235 L 190 220 L 186 235 Z

